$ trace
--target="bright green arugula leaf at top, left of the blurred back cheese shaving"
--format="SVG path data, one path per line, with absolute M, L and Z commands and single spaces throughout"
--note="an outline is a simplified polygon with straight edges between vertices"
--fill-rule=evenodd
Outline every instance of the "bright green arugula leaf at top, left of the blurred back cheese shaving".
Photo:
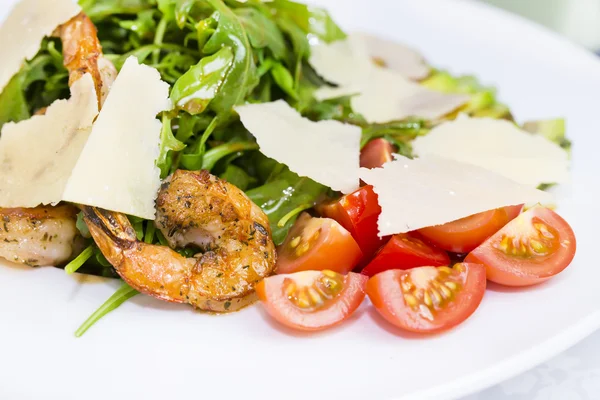
M 246 29 L 252 47 L 268 48 L 277 60 L 287 58 L 285 38 L 271 18 L 252 7 L 237 8 L 234 13 Z

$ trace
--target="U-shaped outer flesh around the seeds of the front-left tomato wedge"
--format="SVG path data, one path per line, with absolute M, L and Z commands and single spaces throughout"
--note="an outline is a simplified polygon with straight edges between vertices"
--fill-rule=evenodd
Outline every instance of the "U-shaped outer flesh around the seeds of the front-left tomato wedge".
M 274 275 L 256 285 L 256 293 L 267 313 L 279 323 L 302 331 L 320 331 L 338 325 L 349 318 L 365 298 L 367 278 L 350 272 L 340 277 L 344 288 L 324 307 L 317 310 L 303 310 L 289 300 L 285 293 L 285 280 L 310 280 L 318 271 L 302 271 L 295 274 Z M 316 277 L 316 275 L 314 275 Z

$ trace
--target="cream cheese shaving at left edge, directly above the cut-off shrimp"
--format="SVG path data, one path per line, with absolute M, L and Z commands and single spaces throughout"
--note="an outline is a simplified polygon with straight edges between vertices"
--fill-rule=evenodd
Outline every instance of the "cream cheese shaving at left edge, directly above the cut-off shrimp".
M 69 100 L 44 115 L 5 124 L 0 137 L 0 207 L 56 204 L 98 114 L 94 81 L 85 74 Z

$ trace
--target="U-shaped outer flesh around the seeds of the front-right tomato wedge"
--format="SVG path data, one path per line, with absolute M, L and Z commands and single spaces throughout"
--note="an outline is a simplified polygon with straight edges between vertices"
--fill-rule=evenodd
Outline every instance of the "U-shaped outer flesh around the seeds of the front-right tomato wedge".
M 483 299 L 486 287 L 485 267 L 479 264 L 461 263 L 464 284 L 444 308 L 434 311 L 432 318 L 411 308 L 401 289 L 400 281 L 408 274 L 420 273 L 433 267 L 412 270 L 387 270 L 372 277 L 367 283 L 367 294 L 379 314 L 392 325 L 415 333 L 442 332 L 455 327 L 470 317 Z M 439 269 L 439 268 L 437 268 Z

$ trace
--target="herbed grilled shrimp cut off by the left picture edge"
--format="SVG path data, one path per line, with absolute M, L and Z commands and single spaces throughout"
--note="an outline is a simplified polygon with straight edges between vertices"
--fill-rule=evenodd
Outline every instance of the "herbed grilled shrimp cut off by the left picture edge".
M 71 205 L 0 209 L 0 257 L 37 267 L 58 265 L 78 254 L 83 238 Z

